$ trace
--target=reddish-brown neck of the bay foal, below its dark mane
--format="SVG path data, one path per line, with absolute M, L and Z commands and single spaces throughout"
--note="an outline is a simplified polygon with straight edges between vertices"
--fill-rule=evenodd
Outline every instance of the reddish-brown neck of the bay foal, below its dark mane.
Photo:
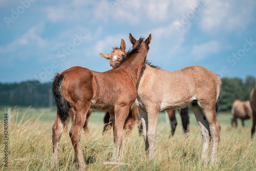
M 145 56 L 146 56 L 145 50 L 140 49 L 138 53 L 131 56 L 129 59 L 123 62 L 122 65 L 119 67 L 119 69 L 123 69 L 130 74 L 135 84 L 139 79 L 141 69 L 145 63 Z

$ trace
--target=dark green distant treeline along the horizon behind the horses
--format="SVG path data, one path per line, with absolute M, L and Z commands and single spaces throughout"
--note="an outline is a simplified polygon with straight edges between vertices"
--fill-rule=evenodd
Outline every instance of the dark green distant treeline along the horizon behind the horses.
M 249 100 L 250 92 L 256 80 L 247 76 L 241 78 L 222 78 L 220 111 L 230 111 L 234 100 Z M 20 83 L 0 83 L 0 106 L 52 107 L 55 105 L 52 92 L 52 82 L 40 83 L 26 81 Z

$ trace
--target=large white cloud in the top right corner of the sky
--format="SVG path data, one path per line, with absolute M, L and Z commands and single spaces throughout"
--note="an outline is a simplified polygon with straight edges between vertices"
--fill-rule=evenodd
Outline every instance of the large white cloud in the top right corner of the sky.
M 200 12 L 199 26 L 208 33 L 243 29 L 254 19 L 254 7 L 255 1 L 207 0 Z

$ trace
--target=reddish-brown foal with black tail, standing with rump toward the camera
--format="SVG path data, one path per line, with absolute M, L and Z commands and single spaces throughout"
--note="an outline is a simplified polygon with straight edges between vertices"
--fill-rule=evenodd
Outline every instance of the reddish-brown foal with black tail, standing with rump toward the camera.
M 53 164 L 58 163 L 58 143 L 63 125 L 72 110 L 74 117 L 70 138 L 80 169 L 86 169 L 80 139 L 86 114 L 90 108 L 110 112 L 114 132 L 113 160 L 118 159 L 123 124 L 137 97 L 136 84 L 150 49 L 148 46 L 150 41 L 151 35 L 145 41 L 140 38 L 137 46 L 117 61 L 115 69 L 100 73 L 87 68 L 72 67 L 61 74 L 56 74 L 52 84 L 57 105 L 57 117 L 52 127 Z M 120 49 L 123 49 L 123 42 L 122 40 Z

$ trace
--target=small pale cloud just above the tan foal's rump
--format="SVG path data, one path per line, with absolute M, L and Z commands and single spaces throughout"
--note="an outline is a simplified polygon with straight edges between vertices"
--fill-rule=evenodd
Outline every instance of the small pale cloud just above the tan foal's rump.
M 220 47 L 218 41 L 211 40 L 204 44 L 195 45 L 191 50 L 190 55 L 193 56 L 194 60 L 203 60 L 209 55 L 217 53 L 219 49 Z

